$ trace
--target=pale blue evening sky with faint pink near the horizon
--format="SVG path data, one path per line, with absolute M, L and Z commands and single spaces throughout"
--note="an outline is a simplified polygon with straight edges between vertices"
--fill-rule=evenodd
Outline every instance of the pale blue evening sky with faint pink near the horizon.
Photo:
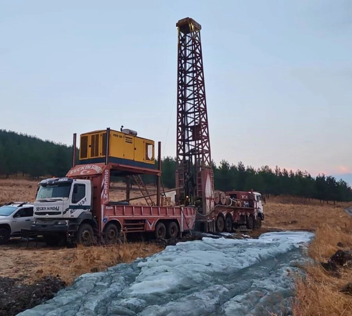
M 351 1 L 0 0 L 0 128 L 71 144 L 124 125 L 175 156 L 185 17 L 202 25 L 215 163 L 352 184 Z

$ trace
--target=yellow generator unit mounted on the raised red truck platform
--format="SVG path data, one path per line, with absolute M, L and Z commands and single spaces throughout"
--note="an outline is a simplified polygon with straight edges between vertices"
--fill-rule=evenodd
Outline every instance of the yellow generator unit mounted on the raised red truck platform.
M 123 129 L 95 130 L 80 135 L 79 164 L 102 163 L 106 159 L 106 135 L 109 133 L 109 162 L 141 168 L 155 168 L 154 141 L 137 137 L 137 132 Z

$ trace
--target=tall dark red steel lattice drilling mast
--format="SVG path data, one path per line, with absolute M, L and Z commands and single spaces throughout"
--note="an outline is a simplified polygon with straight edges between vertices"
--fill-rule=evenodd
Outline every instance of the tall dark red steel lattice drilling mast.
M 182 202 L 186 195 L 193 201 L 203 196 L 205 183 L 202 180 L 202 169 L 211 166 L 211 155 L 201 25 L 191 18 L 185 18 L 179 20 L 176 27 L 178 28 L 176 186 L 184 187 L 179 196 Z

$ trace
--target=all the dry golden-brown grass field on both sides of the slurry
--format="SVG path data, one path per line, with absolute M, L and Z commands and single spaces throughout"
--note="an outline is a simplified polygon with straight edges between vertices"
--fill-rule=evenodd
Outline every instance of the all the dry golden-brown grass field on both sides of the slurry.
M 8 201 L 34 200 L 37 181 L 0 179 L 0 205 Z M 121 183 L 113 183 L 110 200 L 125 198 Z M 149 188 L 155 192 L 154 188 Z M 139 196 L 134 187 L 131 197 Z M 133 203 L 144 203 L 143 199 Z M 315 231 L 316 238 L 310 244 L 309 255 L 326 262 L 338 249 L 352 249 L 352 217 L 344 208 L 352 203 L 305 201 L 292 197 L 269 197 L 265 205 L 265 220 L 260 232 L 271 229 L 304 229 Z M 341 242 L 344 247 L 338 247 Z M 59 275 L 70 284 L 78 275 L 102 271 L 120 262 L 131 262 L 137 257 L 149 256 L 162 250 L 155 244 L 133 243 L 103 247 L 18 249 L 15 243 L 1 247 L 0 276 L 21 277 L 33 282 L 44 275 Z M 343 268 L 341 277 L 328 274 L 319 264 L 305 267 L 306 279 L 297 276 L 295 316 L 346 316 L 352 315 L 352 297 L 339 292 L 352 281 L 352 270 Z

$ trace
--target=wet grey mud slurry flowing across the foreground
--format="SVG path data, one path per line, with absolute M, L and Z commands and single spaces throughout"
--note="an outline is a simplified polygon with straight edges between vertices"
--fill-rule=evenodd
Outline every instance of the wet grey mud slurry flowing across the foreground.
M 178 243 L 131 264 L 84 274 L 18 315 L 289 315 L 292 275 L 313 236 L 272 232 L 259 239 Z

